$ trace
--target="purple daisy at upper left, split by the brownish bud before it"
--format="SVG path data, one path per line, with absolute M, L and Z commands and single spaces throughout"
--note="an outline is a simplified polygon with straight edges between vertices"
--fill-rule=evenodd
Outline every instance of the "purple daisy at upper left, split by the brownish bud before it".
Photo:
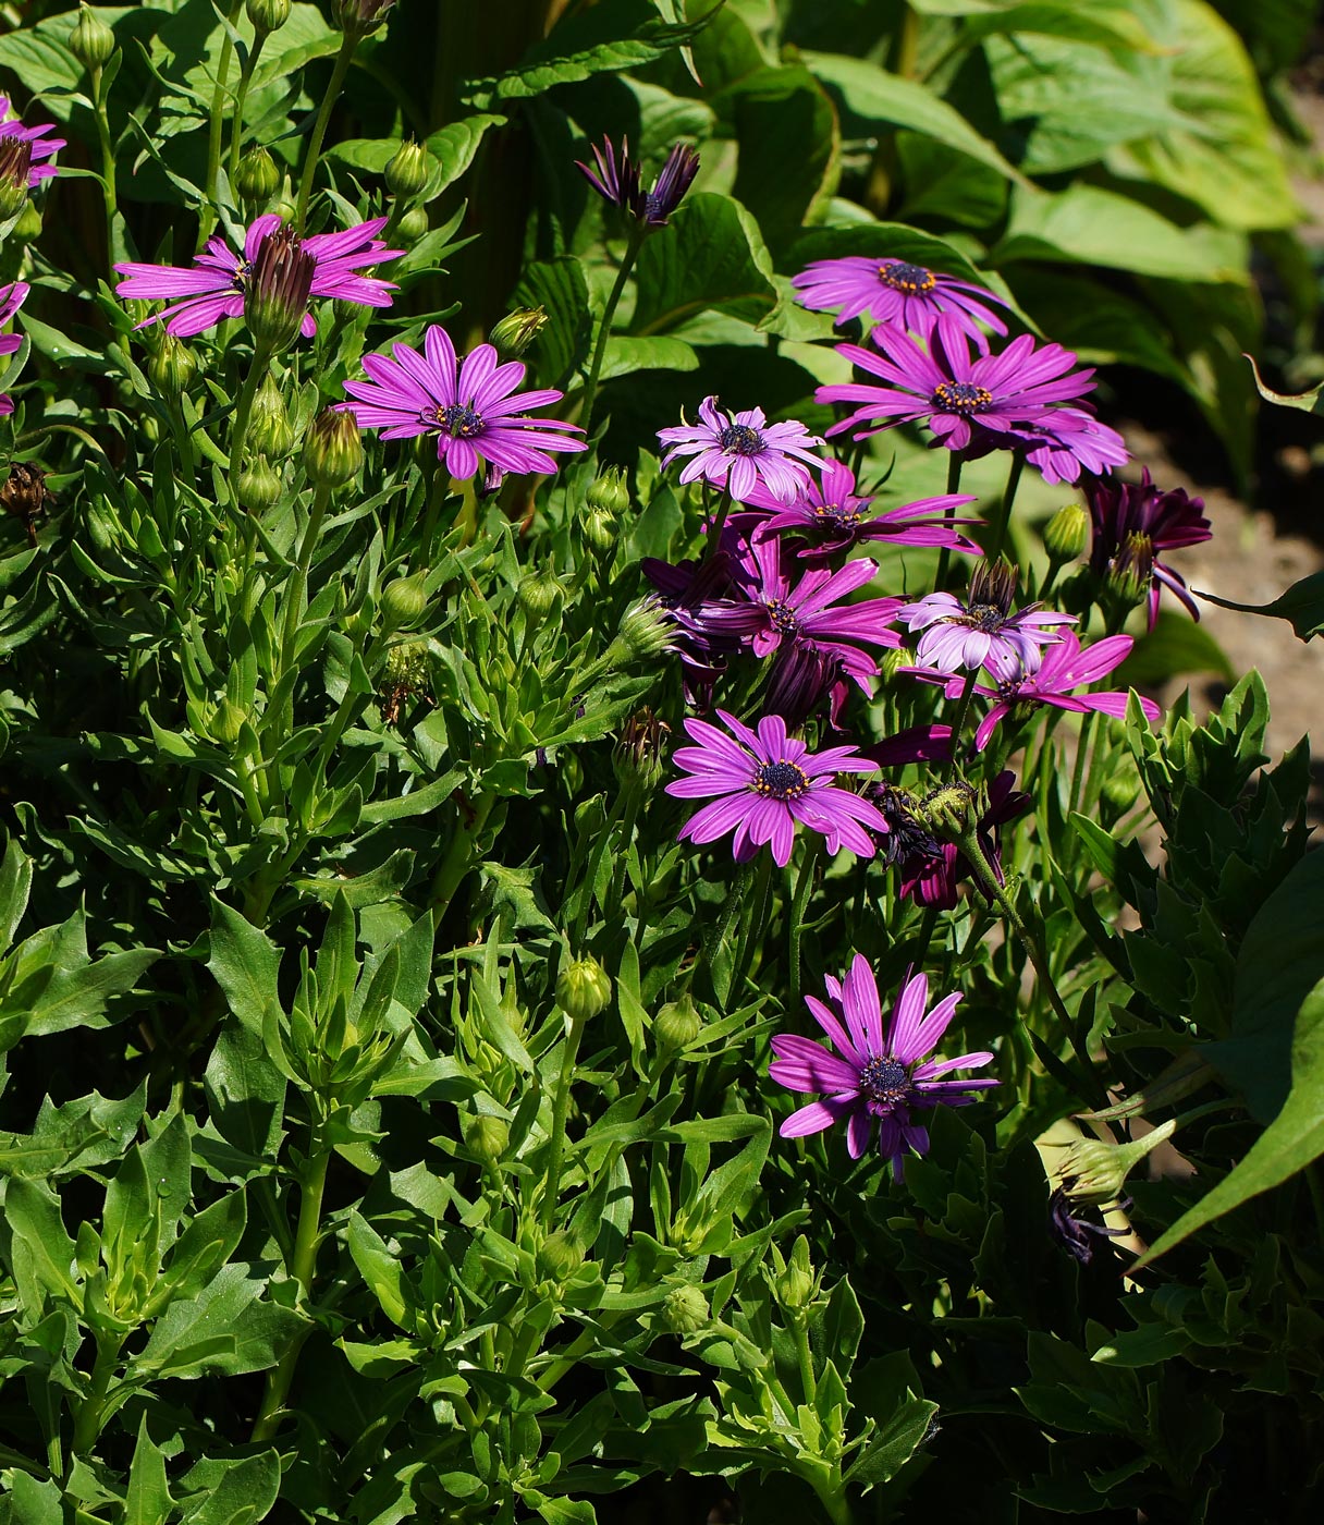
M 309 297 L 331 297 L 337 302 L 357 302 L 360 307 L 390 307 L 390 281 L 366 276 L 364 267 L 399 259 L 402 249 L 387 249 L 376 238 L 385 227 L 384 217 L 357 223 L 340 233 L 314 233 L 297 241 L 299 250 L 312 255 L 315 268 Z M 207 239 L 207 249 L 198 255 L 192 267 L 122 264 L 114 268 L 125 279 L 116 287 L 116 296 L 142 300 L 166 300 L 162 308 L 139 323 L 146 328 L 166 319 L 166 332 L 178 339 L 201 334 L 215 328 L 225 317 L 242 317 L 244 296 L 253 278 L 253 265 L 262 244 L 282 226 L 282 220 L 268 212 L 254 218 L 244 233 L 244 253 L 236 255 L 224 238 Z M 312 314 L 305 314 L 300 332 L 311 339 L 317 332 Z

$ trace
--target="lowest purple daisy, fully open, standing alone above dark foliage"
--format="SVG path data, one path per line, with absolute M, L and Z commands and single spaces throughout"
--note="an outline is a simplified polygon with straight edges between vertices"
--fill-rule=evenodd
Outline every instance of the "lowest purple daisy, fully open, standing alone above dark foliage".
M 913 1113 L 939 1104 L 963 1107 L 977 1092 L 996 1086 L 996 1080 L 940 1078 L 954 1069 L 980 1069 L 993 1055 L 928 1058 L 961 997 L 958 993 L 945 996 L 925 1014 L 929 994 L 925 974 L 914 974 L 902 985 L 885 1035 L 878 981 L 862 953 L 855 955 L 843 981 L 829 976 L 824 984 L 830 1005 L 814 996 L 806 996 L 804 1005 L 836 1052 L 794 1032 L 772 1039 L 777 1055 L 768 1071 L 772 1080 L 788 1090 L 817 1090 L 823 1098 L 792 1112 L 779 1133 L 783 1139 L 797 1139 L 846 1122 L 846 1147 L 852 1159 L 859 1159 L 878 1118 L 879 1153 L 891 1162 L 893 1177 L 900 1180 L 907 1150 L 916 1154 L 928 1150 L 928 1128 L 916 1122 Z

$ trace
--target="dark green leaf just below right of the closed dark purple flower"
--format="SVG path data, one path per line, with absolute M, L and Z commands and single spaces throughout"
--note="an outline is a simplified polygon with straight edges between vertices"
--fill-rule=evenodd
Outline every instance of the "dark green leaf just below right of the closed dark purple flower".
M 643 246 L 635 265 L 635 336 L 675 328 L 698 313 L 757 323 L 777 300 L 759 224 L 730 197 L 699 192 Z

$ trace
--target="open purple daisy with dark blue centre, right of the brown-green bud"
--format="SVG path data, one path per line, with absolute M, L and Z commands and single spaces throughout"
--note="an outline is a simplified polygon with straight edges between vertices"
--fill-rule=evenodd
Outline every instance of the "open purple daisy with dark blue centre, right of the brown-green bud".
M 478 345 L 460 364 L 443 328 L 424 334 L 424 354 L 392 345 L 392 357 L 364 355 L 367 381 L 346 381 L 355 400 L 341 404 L 364 429 L 381 429 L 382 439 L 437 436 L 437 459 L 453 477 L 466 479 L 480 462 L 498 471 L 536 471 L 552 476 L 548 451 L 587 450 L 576 424 L 559 418 L 529 418 L 527 409 L 559 403 L 561 392 L 544 387 L 516 392 L 524 380 L 520 360 L 498 363 L 492 345 Z

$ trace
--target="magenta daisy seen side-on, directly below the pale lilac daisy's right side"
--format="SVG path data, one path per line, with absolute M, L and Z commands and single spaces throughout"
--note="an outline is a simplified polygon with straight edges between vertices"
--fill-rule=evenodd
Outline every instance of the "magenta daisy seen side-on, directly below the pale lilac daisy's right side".
M 890 546 L 946 546 L 967 555 L 980 554 L 972 540 L 952 528 L 981 523 L 978 518 L 951 517 L 957 508 L 975 502 L 971 494 L 925 497 L 870 518 L 865 509 L 871 502 L 871 494 L 855 491 L 855 473 L 844 461 L 824 461 L 823 480 L 808 482 L 789 505 L 776 499 L 762 483 L 756 483 L 747 499 L 751 508 L 768 511 L 759 535 L 786 531 L 811 537 L 812 544 L 800 552 L 806 561 L 826 561 L 864 540 L 881 540 Z

